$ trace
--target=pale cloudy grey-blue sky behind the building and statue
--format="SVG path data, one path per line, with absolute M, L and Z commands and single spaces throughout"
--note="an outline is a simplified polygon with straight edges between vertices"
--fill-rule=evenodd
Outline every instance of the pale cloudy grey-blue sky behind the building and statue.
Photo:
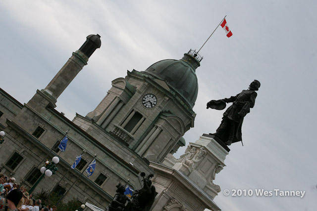
M 2 0 L 0 87 L 27 103 L 88 35 L 99 34 L 101 48 L 56 103 L 70 120 L 86 116 L 112 80 L 198 50 L 227 15 L 232 37 L 219 27 L 199 52 L 197 115 L 186 145 L 219 126 L 223 111 L 207 110 L 208 101 L 259 80 L 242 127 L 244 146 L 229 147 L 214 202 L 223 211 L 316 211 L 316 8 L 315 0 Z M 274 189 L 305 195 L 276 196 Z M 238 190 L 242 196 L 232 196 Z M 257 196 L 261 190 L 272 196 Z

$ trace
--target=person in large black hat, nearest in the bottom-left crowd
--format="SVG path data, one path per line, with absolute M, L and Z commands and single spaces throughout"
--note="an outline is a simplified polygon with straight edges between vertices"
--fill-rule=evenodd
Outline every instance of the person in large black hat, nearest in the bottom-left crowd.
M 22 198 L 22 192 L 18 189 L 12 190 L 5 198 L 0 198 L 0 211 L 18 211 L 16 206 Z

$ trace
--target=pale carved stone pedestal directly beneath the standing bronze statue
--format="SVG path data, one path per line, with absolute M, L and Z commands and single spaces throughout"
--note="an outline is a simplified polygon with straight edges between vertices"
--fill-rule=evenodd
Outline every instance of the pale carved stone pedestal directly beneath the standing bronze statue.
M 225 167 L 224 159 L 229 151 L 213 135 L 203 134 L 195 143 L 189 143 L 179 159 L 168 154 L 162 164 L 182 172 L 213 199 L 221 190 L 213 180 L 215 174 Z

